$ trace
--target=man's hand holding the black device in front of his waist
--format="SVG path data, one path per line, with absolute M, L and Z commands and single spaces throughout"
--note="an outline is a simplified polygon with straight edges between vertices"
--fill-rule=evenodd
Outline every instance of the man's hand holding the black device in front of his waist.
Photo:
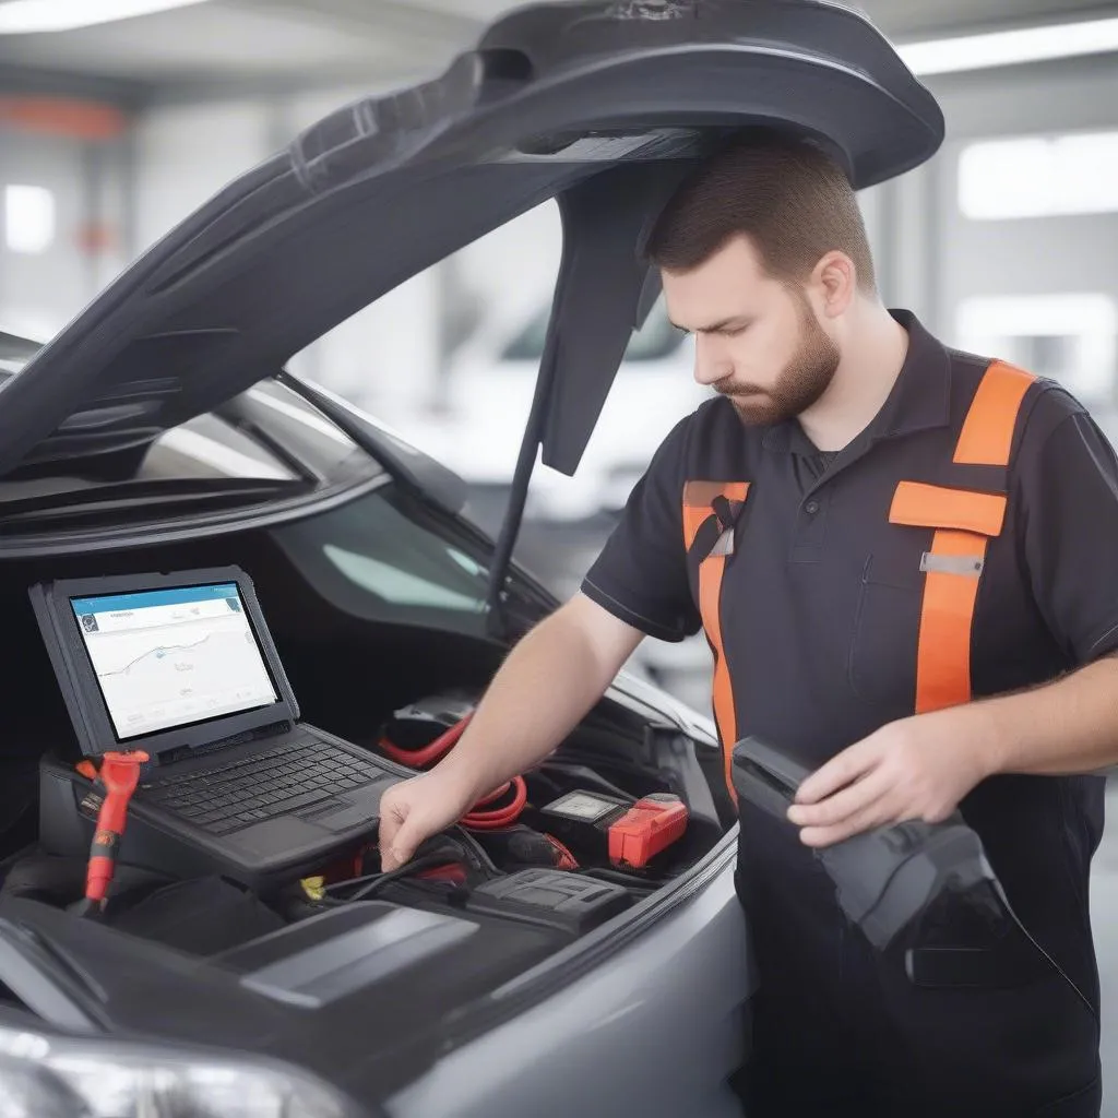
M 919 714 L 844 749 L 799 787 L 788 818 L 808 846 L 830 846 L 907 819 L 941 823 L 992 775 L 974 707 Z

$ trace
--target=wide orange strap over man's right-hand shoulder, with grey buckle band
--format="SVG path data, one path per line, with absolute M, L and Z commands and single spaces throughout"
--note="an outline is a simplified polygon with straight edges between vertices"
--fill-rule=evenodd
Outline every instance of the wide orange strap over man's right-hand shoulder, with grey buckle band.
M 970 402 L 954 462 L 1008 466 L 1022 400 L 1035 378 L 999 361 L 983 375 Z M 970 701 L 970 641 L 986 547 L 1005 521 L 1001 493 L 901 482 L 889 520 L 935 528 L 923 553 L 923 603 L 917 644 L 916 710 L 925 713 Z

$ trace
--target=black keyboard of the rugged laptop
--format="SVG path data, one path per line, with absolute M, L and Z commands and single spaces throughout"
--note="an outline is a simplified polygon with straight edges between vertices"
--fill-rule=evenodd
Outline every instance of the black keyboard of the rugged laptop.
M 380 775 L 371 759 L 362 762 L 325 741 L 288 740 L 230 765 L 145 781 L 141 788 L 145 804 L 221 835 L 301 812 L 372 784 Z

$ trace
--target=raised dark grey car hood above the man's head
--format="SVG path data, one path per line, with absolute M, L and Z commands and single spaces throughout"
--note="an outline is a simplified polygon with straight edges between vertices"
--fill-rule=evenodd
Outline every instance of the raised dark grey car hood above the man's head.
M 944 134 L 888 41 L 834 3 L 515 11 L 438 78 L 307 129 L 122 273 L 0 387 L 0 474 L 157 437 L 551 198 L 565 246 L 534 410 L 544 463 L 572 473 L 659 293 L 643 237 L 697 157 L 756 126 L 814 138 L 858 188 Z

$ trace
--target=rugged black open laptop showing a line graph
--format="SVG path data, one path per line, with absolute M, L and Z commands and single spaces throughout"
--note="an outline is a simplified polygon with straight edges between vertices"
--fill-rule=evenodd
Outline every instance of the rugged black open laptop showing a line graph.
M 30 597 L 82 752 L 151 758 L 122 862 L 255 888 L 376 834 L 404 770 L 300 721 L 244 570 L 60 580 Z M 44 845 L 87 852 L 89 781 L 53 757 L 40 776 Z

